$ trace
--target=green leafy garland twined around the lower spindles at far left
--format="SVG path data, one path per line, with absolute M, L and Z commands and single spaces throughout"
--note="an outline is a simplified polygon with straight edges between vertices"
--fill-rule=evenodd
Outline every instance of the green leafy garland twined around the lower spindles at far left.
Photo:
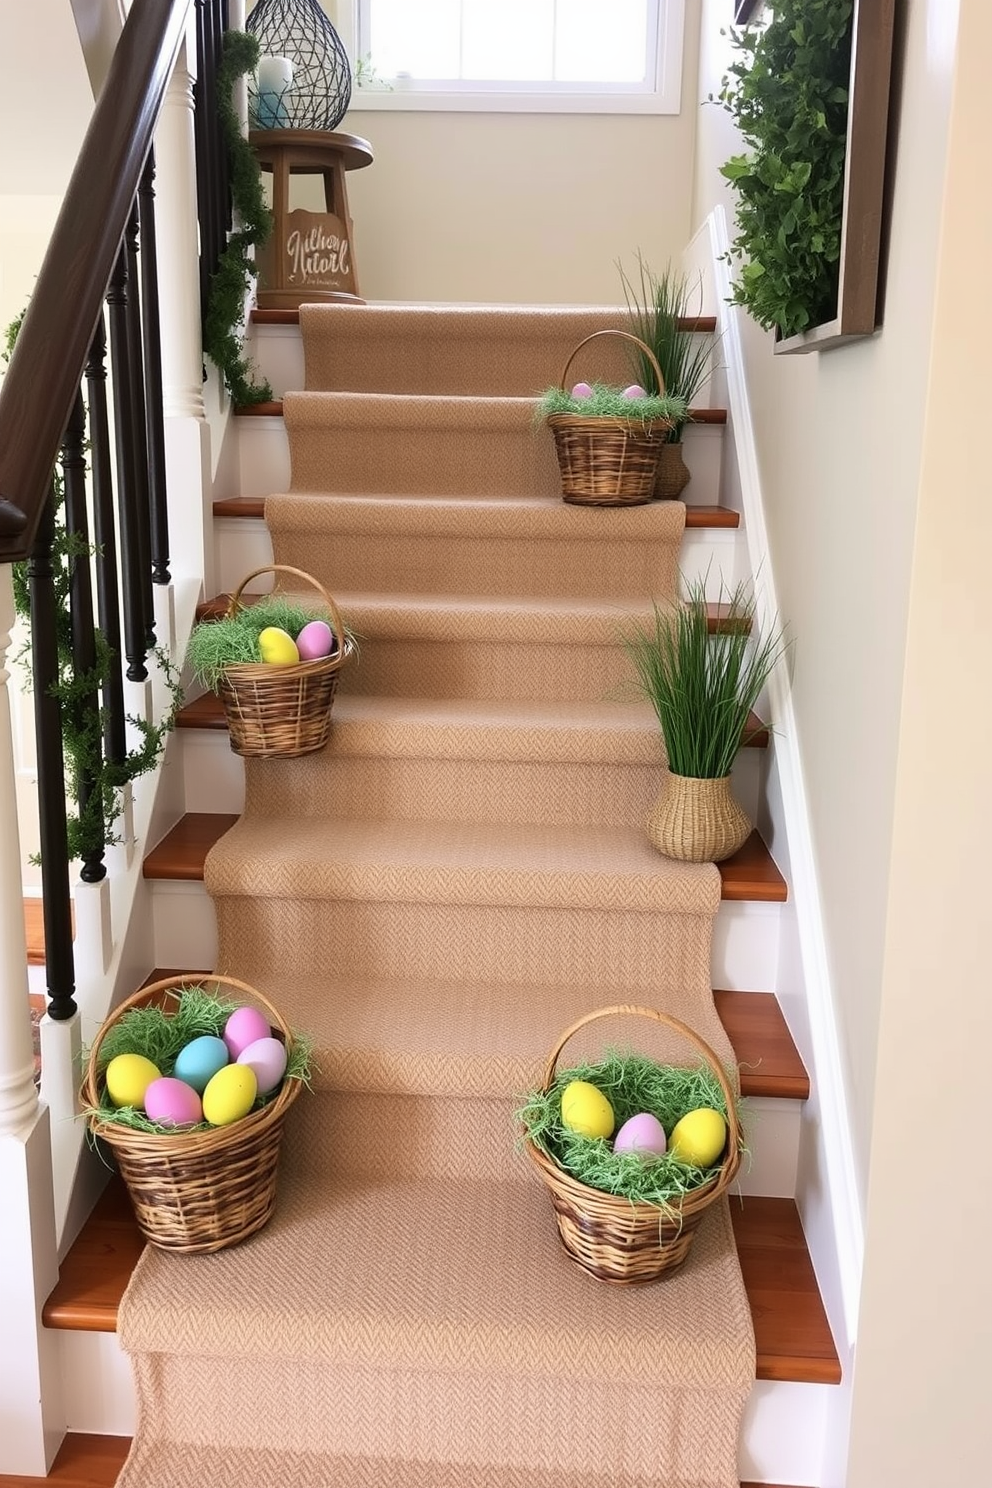
M 12 320 L 6 327 L 4 362 L 10 359 L 24 315 L 25 311 L 21 311 L 16 320 Z M 178 671 L 173 667 L 170 656 L 156 647 L 150 658 L 165 677 L 170 705 L 158 723 L 141 717 L 141 714 L 128 714 L 126 723 L 132 729 L 132 747 L 125 750 L 122 760 L 110 760 L 104 756 L 107 710 L 103 707 L 94 710 L 91 699 L 94 693 L 106 687 L 112 668 L 120 665 L 120 658 L 110 649 L 103 631 L 94 626 L 95 664 L 91 671 L 76 671 L 70 612 L 73 571 L 77 562 L 89 562 L 97 549 L 65 527 L 65 490 L 58 469 L 54 472 L 52 485 L 55 497 L 52 585 L 55 589 L 57 673 L 51 693 L 59 704 L 67 789 L 65 836 L 70 862 L 76 862 L 100 854 L 104 845 L 120 841 L 115 823 L 120 818 L 125 786 L 155 769 L 165 748 L 165 741 L 175 728 L 175 717 L 183 704 L 183 689 Z M 30 626 L 31 595 L 27 568 L 27 562 L 13 564 L 12 583 L 16 615 Z M 28 676 L 30 652 L 28 631 L 28 640 L 16 658 L 25 665 Z M 89 787 L 85 804 L 82 804 L 83 787 Z M 74 802 L 74 809 L 68 801 Z

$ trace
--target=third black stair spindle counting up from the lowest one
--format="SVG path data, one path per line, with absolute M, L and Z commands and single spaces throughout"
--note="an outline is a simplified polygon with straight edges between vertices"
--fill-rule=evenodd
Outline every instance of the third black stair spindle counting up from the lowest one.
M 112 652 L 103 684 L 104 756 L 122 765 L 126 754 L 123 680 L 120 676 L 120 594 L 117 586 L 117 533 L 113 512 L 113 469 L 107 418 L 107 330 L 103 312 L 86 360 L 89 402 L 89 464 L 94 488 L 94 543 L 97 546 L 97 615 Z

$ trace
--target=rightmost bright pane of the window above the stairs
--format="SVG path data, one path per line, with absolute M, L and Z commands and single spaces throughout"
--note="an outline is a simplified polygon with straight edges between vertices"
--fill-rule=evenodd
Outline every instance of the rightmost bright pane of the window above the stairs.
M 558 0 L 558 82 L 645 79 L 647 0 Z

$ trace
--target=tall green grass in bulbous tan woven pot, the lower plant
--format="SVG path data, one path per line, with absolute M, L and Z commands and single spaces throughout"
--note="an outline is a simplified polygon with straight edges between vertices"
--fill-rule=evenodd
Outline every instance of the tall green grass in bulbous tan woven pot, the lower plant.
M 720 863 L 744 845 L 751 821 L 730 789 L 748 716 L 788 649 L 773 623 L 757 634 L 756 601 L 744 585 L 721 591 L 723 619 L 709 634 L 705 579 L 687 585 L 686 603 L 654 607 L 654 622 L 623 635 L 640 692 L 654 708 L 668 774 L 647 818 L 665 857 Z

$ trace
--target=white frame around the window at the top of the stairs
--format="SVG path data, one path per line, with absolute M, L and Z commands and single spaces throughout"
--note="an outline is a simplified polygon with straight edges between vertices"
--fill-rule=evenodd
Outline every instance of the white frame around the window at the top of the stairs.
M 410 0 L 412 3 L 412 0 Z M 498 0 L 494 0 L 498 3 Z M 574 83 L 568 91 L 547 91 L 541 83 L 521 83 L 512 92 L 492 83 L 457 82 L 430 89 L 410 79 L 372 88 L 352 88 L 350 112 L 387 110 L 400 113 L 680 113 L 683 91 L 683 40 L 686 0 L 650 0 L 656 10 L 656 85 L 634 91 L 631 85 Z M 338 30 L 350 57 L 367 52 L 369 0 L 339 0 Z M 607 91 L 608 88 L 608 91 Z

